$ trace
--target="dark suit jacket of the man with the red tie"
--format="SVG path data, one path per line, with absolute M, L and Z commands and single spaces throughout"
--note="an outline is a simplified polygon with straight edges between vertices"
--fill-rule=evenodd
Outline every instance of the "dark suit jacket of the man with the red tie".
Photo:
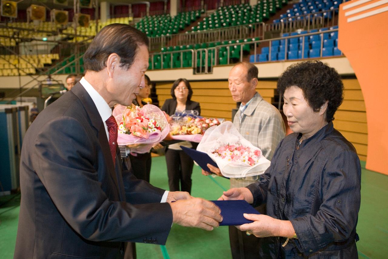
M 29 127 L 14 258 L 120 258 L 124 241 L 165 244 L 164 190 L 113 165 L 106 131 L 77 83 Z

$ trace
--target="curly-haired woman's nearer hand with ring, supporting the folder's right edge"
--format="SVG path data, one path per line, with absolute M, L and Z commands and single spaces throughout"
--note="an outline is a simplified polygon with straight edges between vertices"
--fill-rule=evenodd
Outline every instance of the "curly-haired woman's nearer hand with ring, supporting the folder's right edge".
M 295 233 L 291 221 L 282 221 L 262 214 L 246 214 L 244 217 L 251 221 L 249 224 L 236 226 L 241 231 L 249 231 L 257 237 L 284 236 L 292 237 Z

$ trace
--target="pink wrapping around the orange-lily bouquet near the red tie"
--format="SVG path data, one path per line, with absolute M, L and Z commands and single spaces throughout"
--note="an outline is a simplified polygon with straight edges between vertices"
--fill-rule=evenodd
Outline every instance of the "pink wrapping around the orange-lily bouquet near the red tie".
M 116 122 L 119 124 L 123 121 L 123 112 L 126 109 L 126 106 L 117 105 L 112 115 L 116 119 Z M 168 126 L 167 119 L 164 113 L 155 105 L 146 104 L 142 107 L 142 114 L 149 119 L 154 119 L 158 122 L 162 122 L 166 125 L 165 128 L 160 132 L 156 131 L 150 133 L 149 138 L 135 137 L 130 134 L 118 133 L 117 144 L 118 145 L 132 145 L 132 144 L 142 144 L 139 147 L 131 148 L 131 152 L 135 153 L 147 153 L 151 150 L 152 146 L 161 142 L 170 132 L 170 127 Z M 162 121 L 161 121 L 162 120 Z

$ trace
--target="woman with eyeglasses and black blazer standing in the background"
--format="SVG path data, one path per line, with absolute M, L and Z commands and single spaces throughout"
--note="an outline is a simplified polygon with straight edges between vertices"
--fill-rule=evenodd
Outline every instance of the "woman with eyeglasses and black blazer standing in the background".
M 191 100 L 193 91 L 189 81 L 184 78 L 176 80 L 171 87 L 171 99 L 167 99 L 161 110 L 168 115 L 186 110 L 196 110 L 201 114 L 199 103 Z M 166 149 L 166 164 L 168 186 L 170 191 L 186 191 L 191 193 L 191 174 L 194 161 L 179 146 L 196 147 L 197 143 L 184 141 L 168 145 Z M 180 182 L 180 188 L 179 188 Z

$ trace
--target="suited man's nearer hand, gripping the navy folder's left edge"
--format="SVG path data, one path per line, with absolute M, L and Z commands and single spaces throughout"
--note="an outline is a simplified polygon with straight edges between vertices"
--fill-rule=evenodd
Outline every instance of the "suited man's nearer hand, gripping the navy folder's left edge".
M 170 203 L 173 223 L 184 227 L 213 230 L 222 221 L 221 210 L 211 201 L 201 198 Z

